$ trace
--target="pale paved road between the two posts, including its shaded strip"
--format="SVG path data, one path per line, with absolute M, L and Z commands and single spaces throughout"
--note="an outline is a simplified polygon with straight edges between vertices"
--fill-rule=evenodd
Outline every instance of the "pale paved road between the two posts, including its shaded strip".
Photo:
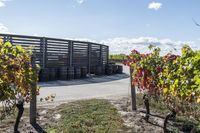
M 79 99 L 117 98 L 128 96 L 130 90 L 129 69 L 124 66 L 124 74 L 92 77 L 82 80 L 54 81 L 40 83 L 39 106 L 58 105 Z M 40 102 L 40 98 L 55 94 L 54 102 Z

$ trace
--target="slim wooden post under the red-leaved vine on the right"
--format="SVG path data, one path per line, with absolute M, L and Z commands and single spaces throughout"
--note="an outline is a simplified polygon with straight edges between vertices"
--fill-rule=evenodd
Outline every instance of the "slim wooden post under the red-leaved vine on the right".
M 137 107 L 136 107 L 136 90 L 135 90 L 135 85 L 132 84 L 132 72 L 133 70 L 131 69 L 130 66 L 130 84 L 131 84 L 131 109 L 132 111 L 136 111 Z

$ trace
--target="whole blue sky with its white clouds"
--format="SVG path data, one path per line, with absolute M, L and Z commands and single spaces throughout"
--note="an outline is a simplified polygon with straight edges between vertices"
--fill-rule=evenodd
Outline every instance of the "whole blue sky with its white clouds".
M 0 33 L 94 41 L 113 54 L 200 49 L 194 21 L 200 0 L 0 0 Z

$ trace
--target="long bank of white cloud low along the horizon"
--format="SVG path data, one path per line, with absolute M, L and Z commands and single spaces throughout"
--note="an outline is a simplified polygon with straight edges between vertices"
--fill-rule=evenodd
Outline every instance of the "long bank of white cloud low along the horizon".
M 195 45 L 192 41 L 173 41 L 171 39 L 158 39 L 155 37 L 139 37 L 139 38 L 112 38 L 103 40 L 100 43 L 109 46 L 111 54 L 130 54 L 133 49 L 142 53 L 148 53 L 148 46 L 150 44 L 156 45 L 161 48 L 161 53 L 166 54 L 172 52 L 180 54 L 183 45 L 188 44 L 193 49 L 200 49 L 200 46 Z

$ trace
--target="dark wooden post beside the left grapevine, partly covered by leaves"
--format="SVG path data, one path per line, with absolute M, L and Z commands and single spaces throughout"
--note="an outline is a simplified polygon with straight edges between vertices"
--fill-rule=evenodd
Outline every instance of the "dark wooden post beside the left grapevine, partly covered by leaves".
M 33 69 L 36 68 L 35 64 L 35 55 L 33 54 L 31 58 L 31 64 Z M 32 84 L 32 89 L 31 89 L 31 100 L 30 100 L 30 124 L 35 125 L 36 124 L 36 116 L 37 116 L 37 97 L 36 97 L 36 89 L 37 89 L 37 84 L 33 83 Z

